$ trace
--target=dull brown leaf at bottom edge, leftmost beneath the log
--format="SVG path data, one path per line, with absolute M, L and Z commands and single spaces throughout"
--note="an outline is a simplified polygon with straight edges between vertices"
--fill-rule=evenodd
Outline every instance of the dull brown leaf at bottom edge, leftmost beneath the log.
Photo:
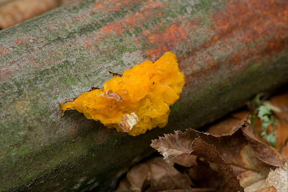
M 123 179 L 120 182 L 117 191 L 145 190 L 149 192 L 187 188 L 193 185 L 188 175 L 179 172 L 173 165 L 174 163 L 172 162 L 166 163 L 162 157 L 154 157 L 146 162 L 137 164 L 127 172 L 127 180 Z M 130 185 L 127 184 L 127 181 Z M 129 186 L 129 188 L 124 188 L 123 186 Z

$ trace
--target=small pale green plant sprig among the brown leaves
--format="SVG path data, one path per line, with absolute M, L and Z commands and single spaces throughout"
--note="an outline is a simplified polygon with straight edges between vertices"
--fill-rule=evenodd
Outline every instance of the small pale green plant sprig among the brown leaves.
M 249 108 L 254 110 L 254 113 L 251 115 L 251 124 L 254 127 L 256 116 L 262 120 L 261 128 L 262 132 L 260 136 L 266 139 L 270 146 L 276 146 L 276 135 L 275 130 L 277 128 L 277 123 L 275 121 L 275 117 L 273 115 L 273 111 L 279 111 L 278 108 L 271 105 L 270 102 L 264 101 L 267 99 L 264 93 L 259 93 L 256 95 L 255 99 L 248 105 Z M 267 134 L 267 127 L 272 125 L 273 131 Z

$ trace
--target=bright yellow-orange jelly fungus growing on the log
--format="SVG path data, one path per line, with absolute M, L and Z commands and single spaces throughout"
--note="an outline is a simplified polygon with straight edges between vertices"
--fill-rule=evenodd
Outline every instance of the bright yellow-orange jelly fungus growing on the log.
M 60 107 L 62 112 L 75 109 L 87 119 L 135 136 L 167 124 L 169 106 L 179 99 L 184 83 L 175 54 L 167 52 L 158 61 L 126 69 L 103 88 L 84 92 Z

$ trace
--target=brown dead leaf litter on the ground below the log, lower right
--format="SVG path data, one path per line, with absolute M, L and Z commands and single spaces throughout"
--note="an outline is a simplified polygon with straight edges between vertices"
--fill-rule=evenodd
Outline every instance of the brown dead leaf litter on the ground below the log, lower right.
M 267 126 L 268 134 L 275 131 L 275 148 L 261 137 L 263 120 L 256 117 L 251 125 L 247 114 L 253 111 L 233 113 L 210 126 L 209 133 L 187 129 L 152 140 L 165 161 L 153 157 L 133 166 L 117 191 L 288 191 L 288 93 L 269 102 L 280 109 L 269 112 L 277 129 Z

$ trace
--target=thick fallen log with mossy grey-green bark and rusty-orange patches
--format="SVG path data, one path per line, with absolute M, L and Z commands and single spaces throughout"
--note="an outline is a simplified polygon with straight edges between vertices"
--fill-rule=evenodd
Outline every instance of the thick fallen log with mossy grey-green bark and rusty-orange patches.
M 0 190 L 112 190 L 151 139 L 199 128 L 288 82 L 288 2 L 81 1 L 0 31 Z M 59 103 L 165 52 L 185 86 L 136 137 Z

